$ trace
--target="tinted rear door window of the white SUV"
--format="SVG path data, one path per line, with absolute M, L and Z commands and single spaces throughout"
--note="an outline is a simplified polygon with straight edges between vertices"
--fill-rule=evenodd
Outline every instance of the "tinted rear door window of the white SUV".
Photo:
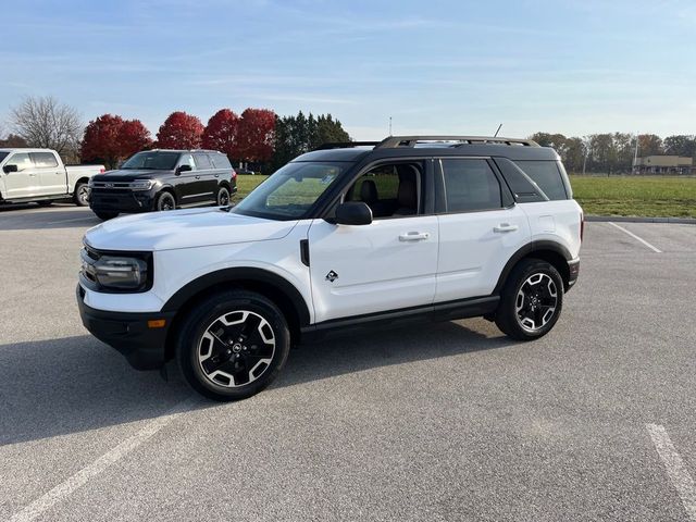
M 447 212 L 502 208 L 500 184 L 486 160 L 444 159 Z

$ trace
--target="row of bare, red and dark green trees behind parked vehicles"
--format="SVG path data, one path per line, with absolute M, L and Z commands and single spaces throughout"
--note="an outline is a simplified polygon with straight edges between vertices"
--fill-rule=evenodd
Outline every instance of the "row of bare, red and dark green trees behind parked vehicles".
M 262 172 L 326 141 L 349 141 L 340 121 L 331 114 L 278 116 L 269 109 L 249 108 L 237 115 L 221 109 L 203 125 L 183 111 L 170 114 L 154 138 L 139 120 L 102 114 L 83 126 L 78 112 L 52 97 L 26 98 L 11 111 L 13 133 L 0 147 L 55 149 L 66 162 L 103 163 L 115 169 L 139 150 L 213 149 L 233 164 Z

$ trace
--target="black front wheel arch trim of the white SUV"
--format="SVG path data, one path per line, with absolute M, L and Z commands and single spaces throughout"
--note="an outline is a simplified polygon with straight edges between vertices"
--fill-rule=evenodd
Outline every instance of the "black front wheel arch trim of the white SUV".
M 203 299 L 229 288 L 256 291 L 273 301 L 287 320 L 291 343 L 299 343 L 300 328 L 310 324 L 310 311 L 295 285 L 283 276 L 263 269 L 223 269 L 187 283 L 162 307 L 162 312 L 176 312 L 166 338 L 167 360 L 174 356 L 174 339 L 178 335 L 181 318 Z

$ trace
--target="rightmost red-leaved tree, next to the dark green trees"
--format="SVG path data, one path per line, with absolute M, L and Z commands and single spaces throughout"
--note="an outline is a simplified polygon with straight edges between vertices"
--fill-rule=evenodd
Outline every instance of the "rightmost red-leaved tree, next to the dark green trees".
M 264 162 L 273 156 L 275 113 L 268 109 L 246 109 L 239 119 L 235 157 Z

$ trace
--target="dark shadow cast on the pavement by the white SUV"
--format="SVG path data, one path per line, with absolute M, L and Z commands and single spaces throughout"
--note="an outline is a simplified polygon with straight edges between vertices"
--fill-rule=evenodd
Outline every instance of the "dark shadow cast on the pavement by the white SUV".
M 272 387 L 510 344 L 458 323 L 326 337 L 293 350 Z M 115 350 L 87 335 L 0 346 L 0 446 L 164 415 L 196 397 L 174 363 L 167 370 L 169 381 L 158 372 L 135 371 Z M 201 398 L 188 408 L 221 406 Z

